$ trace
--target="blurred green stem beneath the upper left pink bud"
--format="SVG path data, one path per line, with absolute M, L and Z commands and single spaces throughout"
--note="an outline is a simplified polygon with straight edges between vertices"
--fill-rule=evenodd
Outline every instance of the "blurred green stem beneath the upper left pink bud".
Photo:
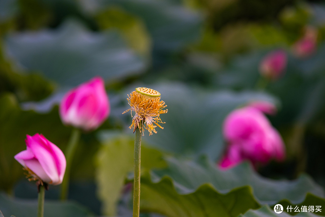
M 77 149 L 77 144 L 80 139 L 80 134 L 81 132 L 79 129 L 74 128 L 72 130 L 71 137 L 66 149 L 65 157 L 67 160 L 67 167 L 65 169 L 65 174 L 61 185 L 61 196 L 60 196 L 61 200 L 66 200 L 68 197 L 72 159 Z

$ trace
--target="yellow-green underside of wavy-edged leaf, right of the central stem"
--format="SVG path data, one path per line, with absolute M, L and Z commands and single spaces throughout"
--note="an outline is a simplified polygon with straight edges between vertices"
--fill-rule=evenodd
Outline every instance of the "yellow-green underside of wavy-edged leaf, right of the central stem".
M 248 186 L 222 194 L 207 183 L 196 191 L 180 194 L 170 178 L 152 183 L 141 177 L 140 211 L 157 212 L 168 217 L 237 217 L 259 204 Z

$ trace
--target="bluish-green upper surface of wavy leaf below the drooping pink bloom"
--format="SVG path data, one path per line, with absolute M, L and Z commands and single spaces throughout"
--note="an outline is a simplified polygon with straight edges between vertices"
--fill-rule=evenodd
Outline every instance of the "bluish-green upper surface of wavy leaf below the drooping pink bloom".
M 258 175 L 248 163 L 229 170 L 220 170 L 206 157 L 201 157 L 197 162 L 168 158 L 167 162 L 167 169 L 152 172 L 152 181 L 157 183 L 165 176 L 172 177 L 180 194 L 188 194 L 204 183 L 211 183 L 223 194 L 249 185 L 253 189 L 254 198 L 261 204 L 269 205 L 282 199 L 287 199 L 292 204 L 302 203 L 307 193 L 324 197 L 324 190 L 307 175 L 301 175 L 294 181 L 276 181 Z M 321 201 L 325 205 L 325 200 Z

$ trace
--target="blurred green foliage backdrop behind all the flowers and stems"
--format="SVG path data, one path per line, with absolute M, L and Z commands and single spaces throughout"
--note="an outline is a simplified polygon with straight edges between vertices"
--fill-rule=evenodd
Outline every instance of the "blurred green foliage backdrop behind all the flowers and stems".
M 318 31 L 317 50 L 298 58 L 292 46 L 306 26 Z M 266 83 L 259 64 L 278 48 L 288 54 L 286 73 Z M 235 217 L 259 208 L 242 216 L 272 216 L 279 201 L 325 208 L 323 1 L 1 0 L 0 51 L 4 216 L 35 216 L 36 188 L 13 156 L 26 134 L 42 133 L 64 150 L 72 129 L 58 103 L 95 75 L 105 79 L 110 117 L 82 135 L 73 202 L 57 201 L 59 186 L 51 186 L 45 216 L 130 216 L 134 140 L 122 112 L 138 86 L 160 91 L 169 110 L 164 129 L 143 137 L 144 217 Z M 256 100 L 279 109 L 269 119 L 285 141 L 285 162 L 220 171 L 224 118 Z

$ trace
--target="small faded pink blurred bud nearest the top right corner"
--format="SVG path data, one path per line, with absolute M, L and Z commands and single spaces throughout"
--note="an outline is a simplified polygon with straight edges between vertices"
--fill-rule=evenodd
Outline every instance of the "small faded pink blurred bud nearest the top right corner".
M 318 32 L 313 27 L 305 29 L 304 36 L 293 45 L 293 54 L 299 58 L 306 58 L 315 53 Z

